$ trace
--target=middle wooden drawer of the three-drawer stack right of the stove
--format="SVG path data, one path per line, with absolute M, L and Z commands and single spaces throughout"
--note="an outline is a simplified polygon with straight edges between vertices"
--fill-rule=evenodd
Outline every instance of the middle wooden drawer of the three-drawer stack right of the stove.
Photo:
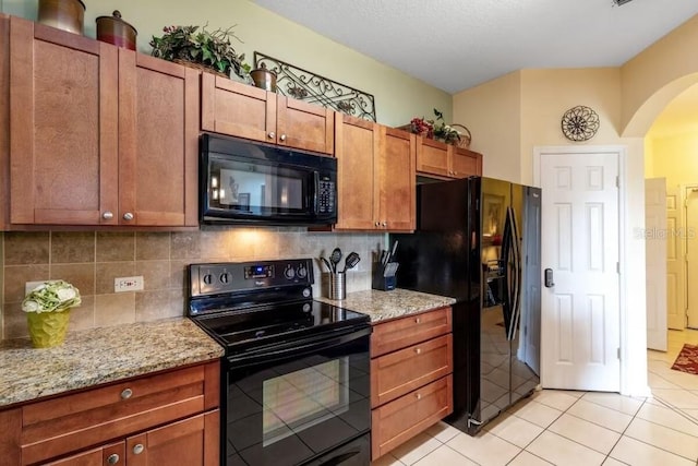
M 440 336 L 371 360 L 371 406 L 377 407 L 453 372 L 453 336 Z

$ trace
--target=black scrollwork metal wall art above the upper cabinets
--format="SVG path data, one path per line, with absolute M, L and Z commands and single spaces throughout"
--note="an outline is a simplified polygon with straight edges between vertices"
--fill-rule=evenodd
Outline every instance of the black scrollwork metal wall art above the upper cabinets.
M 279 94 L 333 108 L 364 120 L 376 121 L 375 103 L 371 94 L 258 51 L 254 52 L 254 64 L 256 68 L 264 65 L 276 73 L 276 88 Z

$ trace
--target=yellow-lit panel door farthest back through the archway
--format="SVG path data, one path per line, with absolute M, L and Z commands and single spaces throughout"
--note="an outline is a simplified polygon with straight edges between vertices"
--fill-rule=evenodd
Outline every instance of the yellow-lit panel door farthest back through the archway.
M 666 324 L 669 328 L 686 328 L 686 260 L 684 241 L 684 203 L 678 187 L 666 188 Z

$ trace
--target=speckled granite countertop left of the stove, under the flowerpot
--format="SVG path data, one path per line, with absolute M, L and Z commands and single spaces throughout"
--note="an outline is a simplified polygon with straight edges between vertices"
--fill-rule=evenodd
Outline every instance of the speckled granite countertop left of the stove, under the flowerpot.
M 4 340 L 0 342 L 0 408 L 222 354 L 220 345 L 184 318 L 73 332 L 53 348 L 33 348 L 28 338 Z

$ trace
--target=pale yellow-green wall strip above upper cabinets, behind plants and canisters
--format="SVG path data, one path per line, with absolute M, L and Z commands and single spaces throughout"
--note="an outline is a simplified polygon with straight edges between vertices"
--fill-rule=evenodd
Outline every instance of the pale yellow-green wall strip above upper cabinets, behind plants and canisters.
M 372 58 L 329 40 L 248 0 L 85 0 L 85 35 L 96 36 L 95 19 L 119 9 L 124 21 L 139 32 L 139 51 L 149 53 L 148 41 L 166 25 L 205 25 L 209 29 L 237 24 L 244 40 L 236 50 L 252 64 L 255 50 L 327 76 L 375 97 L 378 122 L 396 127 L 414 116 L 442 110 L 450 121 L 452 97 Z M 35 20 L 37 0 L 2 0 L 1 11 Z M 360 34 L 360 32 L 357 32 Z

